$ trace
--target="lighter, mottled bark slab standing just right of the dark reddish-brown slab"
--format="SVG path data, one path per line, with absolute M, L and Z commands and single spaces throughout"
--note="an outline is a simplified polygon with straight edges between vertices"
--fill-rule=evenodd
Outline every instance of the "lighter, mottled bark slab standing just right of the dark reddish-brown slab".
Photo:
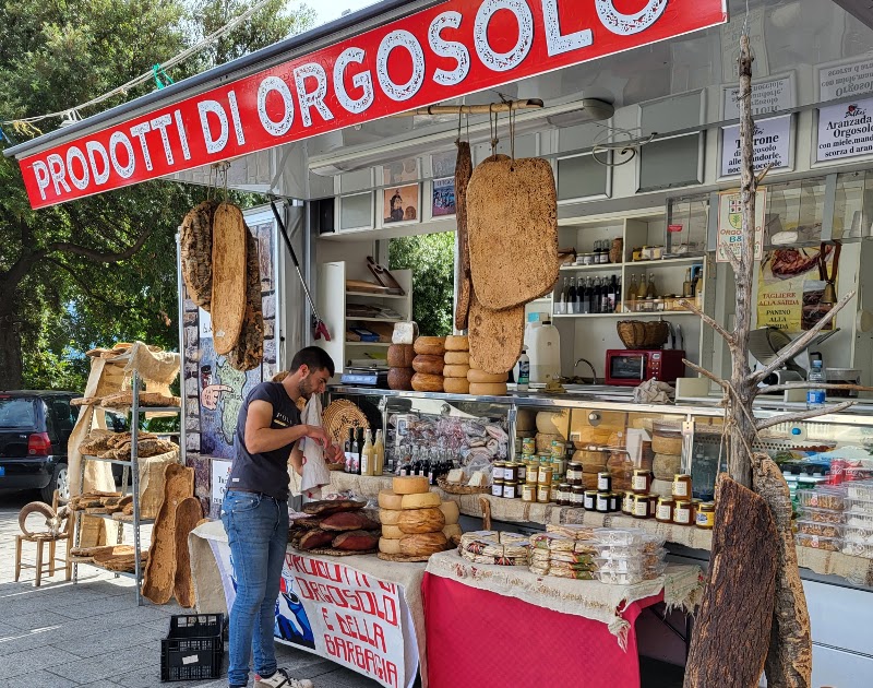
M 766 454 L 752 470 L 755 491 L 770 509 L 778 538 L 776 605 L 765 673 L 770 688 L 806 688 L 812 683 L 812 630 L 791 530 L 791 496 L 781 471 Z

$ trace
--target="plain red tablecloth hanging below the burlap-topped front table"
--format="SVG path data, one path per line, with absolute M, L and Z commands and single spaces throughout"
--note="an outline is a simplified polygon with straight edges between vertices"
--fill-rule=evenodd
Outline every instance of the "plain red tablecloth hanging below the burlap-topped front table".
M 606 624 L 424 573 L 430 688 L 639 688 L 636 617 L 663 593 L 631 603 L 627 650 Z

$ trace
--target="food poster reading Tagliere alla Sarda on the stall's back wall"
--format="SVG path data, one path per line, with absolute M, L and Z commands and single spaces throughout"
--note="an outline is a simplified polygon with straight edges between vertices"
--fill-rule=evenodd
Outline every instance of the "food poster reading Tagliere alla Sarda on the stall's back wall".
M 802 332 L 827 315 L 833 305 L 821 303 L 826 284 L 822 276 L 832 274 L 834 247 L 828 245 L 824 251 L 824 260 L 817 248 L 781 248 L 764 253 L 757 283 L 757 327 Z M 833 328 L 830 322 L 825 330 Z

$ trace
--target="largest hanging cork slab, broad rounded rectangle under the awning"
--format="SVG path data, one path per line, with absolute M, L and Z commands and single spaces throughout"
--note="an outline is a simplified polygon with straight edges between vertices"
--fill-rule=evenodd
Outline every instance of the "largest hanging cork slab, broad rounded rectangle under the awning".
M 470 276 L 482 306 L 505 310 L 552 290 L 558 194 L 547 161 L 489 158 L 477 166 L 467 187 L 467 227 Z

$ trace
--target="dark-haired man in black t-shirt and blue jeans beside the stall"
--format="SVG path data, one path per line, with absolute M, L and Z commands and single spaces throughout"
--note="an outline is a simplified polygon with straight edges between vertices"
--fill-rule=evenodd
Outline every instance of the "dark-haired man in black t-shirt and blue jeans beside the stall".
M 297 400 L 324 392 L 334 361 L 321 348 L 300 349 L 282 382 L 263 382 L 242 404 L 235 436 L 222 523 L 227 532 L 237 596 L 230 609 L 230 688 L 249 680 L 254 655 L 255 688 L 308 688 L 276 666 L 273 644 L 276 598 L 288 544 L 288 461 L 302 473 L 298 440 L 309 437 L 338 451 L 318 426 L 301 425 Z

